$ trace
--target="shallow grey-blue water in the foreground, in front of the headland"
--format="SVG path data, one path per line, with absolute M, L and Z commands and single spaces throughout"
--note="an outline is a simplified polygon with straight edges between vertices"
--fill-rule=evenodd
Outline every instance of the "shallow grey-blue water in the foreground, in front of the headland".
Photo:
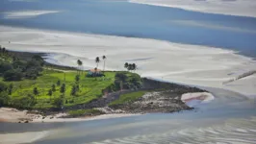
M 5 129 L 6 132 L 48 130 L 45 137 L 35 142 L 38 144 L 255 143 L 255 102 L 239 93 L 207 90 L 216 99 L 197 105 L 192 111 L 73 123 L 5 124 Z

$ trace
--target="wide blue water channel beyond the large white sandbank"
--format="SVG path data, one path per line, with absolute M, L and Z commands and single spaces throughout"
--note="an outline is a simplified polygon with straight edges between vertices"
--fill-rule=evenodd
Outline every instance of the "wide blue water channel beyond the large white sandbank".
M 208 45 L 256 56 L 256 18 L 109 0 L 1 0 L 0 24 Z M 5 12 L 58 11 L 8 18 Z M 35 12 L 30 12 L 35 13 Z M 49 20 L 50 19 L 50 20 Z

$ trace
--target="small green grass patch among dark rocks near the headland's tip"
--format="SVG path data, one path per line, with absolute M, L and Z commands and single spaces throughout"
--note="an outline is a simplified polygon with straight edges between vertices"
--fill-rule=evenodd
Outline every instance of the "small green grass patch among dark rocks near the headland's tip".
M 133 102 L 143 96 L 147 91 L 137 91 L 120 95 L 119 99 L 110 103 L 109 106 Z

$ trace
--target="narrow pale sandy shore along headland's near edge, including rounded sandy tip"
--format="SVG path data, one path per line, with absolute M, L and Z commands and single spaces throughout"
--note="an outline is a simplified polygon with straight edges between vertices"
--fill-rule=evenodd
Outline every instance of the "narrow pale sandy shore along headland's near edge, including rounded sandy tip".
M 194 92 L 194 93 L 184 93 L 181 96 L 181 100 L 184 103 L 200 100 L 200 103 L 210 103 L 213 101 L 215 97 L 209 92 Z M 178 105 L 178 104 L 177 104 Z M 193 107 L 193 106 L 191 106 Z M 104 108 L 97 108 L 103 110 Z M 191 109 L 183 109 L 183 110 L 192 110 Z M 32 110 L 33 111 L 33 110 Z M 91 115 L 91 116 L 79 116 L 79 117 L 69 117 L 64 118 L 64 116 L 68 116 L 66 112 L 57 112 L 55 114 L 42 115 L 33 113 L 30 110 L 19 110 L 16 108 L 0 108 L 0 122 L 4 123 L 63 123 L 63 122 L 81 122 L 81 121 L 91 121 L 91 120 L 103 120 L 103 119 L 112 119 L 112 118 L 121 118 L 121 117 L 131 117 L 131 116 L 139 116 L 143 114 L 150 114 L 151 112 L 143 112 L 143 113 L 105 113 L 99 115 Z M 171 111 L 171 112 L 153 112 L 153 113 L 172 113 L 179 112 Z M 34 110 L 35 112 L 35 110 Z

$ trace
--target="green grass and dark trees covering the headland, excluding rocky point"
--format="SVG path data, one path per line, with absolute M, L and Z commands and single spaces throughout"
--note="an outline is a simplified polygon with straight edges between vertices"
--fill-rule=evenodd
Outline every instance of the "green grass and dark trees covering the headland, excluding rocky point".
M 0 107 L 66 108 L 98 99 L 106 90 L 141 87 L 141 77 L 135 73 L 106 71 L 105 77 L 94 79 L 82 70 L 49 68 L 37 54 L 24 58 L 13 54 L 1 48 Z M 98 60 L 95 62 L 98 65 Z

